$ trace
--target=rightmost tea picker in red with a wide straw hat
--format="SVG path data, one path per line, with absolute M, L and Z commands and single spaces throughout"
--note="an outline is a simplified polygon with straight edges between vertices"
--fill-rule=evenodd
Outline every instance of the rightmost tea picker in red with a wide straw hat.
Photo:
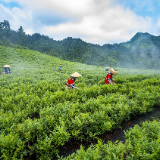
M 115 69 L 110 67 L 106 67 L 105 71 L 109 71 L 109 72 L 107 73 L 107 76 L 104 80 L 104 84 L 111 84 L 111 85 L 115 84 L 116 82 L 112 79 L 112 76 L 118 75 L 118 72 Z

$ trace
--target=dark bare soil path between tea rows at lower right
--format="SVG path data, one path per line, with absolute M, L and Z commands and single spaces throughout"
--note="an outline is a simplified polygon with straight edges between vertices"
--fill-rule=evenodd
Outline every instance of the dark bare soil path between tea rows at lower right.
M 139 125 L 144 121 L 152 121 L 154 119 L 160 119 L 160 108 L 155 107 L 152 112 L 146 113 L 144 115 L 140 115 L 139 117 L 132 117 L 131 120 L 127 122 L 123 122 L 121 124 L 121 128 L 114 129 L 112 132 L 106 132 L 103 135 L 100 135 L 99 138 L 103 140 L 104 143 L 107 143 L 108 141 L 125 141 L 125 134 L 124 132 L 129 130 L 129 128 L 134 127 L 134 125 Z M 91 144 L 96 144 L 97 140 L 93 140 L 90 142 L 81 142 L 75 139 L 71 139 L 69 142 L 67 142 L 64 146 L 59 148 L 59 155 L 63 157 L 67 157 L 70 154 L 76 152 L 76 150 L 80 149 L 80 145 L 83 145 L 86 149 Z M 57 160 L 56 157 L 53 158 L 53 160 Z

